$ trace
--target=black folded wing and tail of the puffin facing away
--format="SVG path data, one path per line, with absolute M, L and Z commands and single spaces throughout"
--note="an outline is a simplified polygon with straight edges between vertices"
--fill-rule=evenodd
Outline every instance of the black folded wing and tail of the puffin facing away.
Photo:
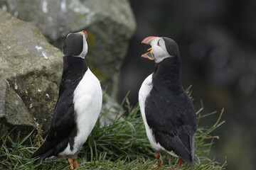
M 47 157 L 56 156 L 68 146 L 68 142 L 73 144 L 74 137 L 77 133 L 75 126 L 73 95 L 60 96 L 55 106 L 53 122 L 50 132 L 46 137 L 43 145 L 32 155 L 40 157 L 34 164 L 38 164 Z M 71 147 L 73 145 L 70 145 Z

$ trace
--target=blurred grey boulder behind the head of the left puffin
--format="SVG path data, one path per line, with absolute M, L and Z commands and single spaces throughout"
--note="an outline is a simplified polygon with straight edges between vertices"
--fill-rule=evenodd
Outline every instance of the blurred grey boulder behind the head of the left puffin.
M 119 69 L 136 27 L 129 1 L 6 0 L 6 4 L 10 13 L 34 23 L 60 49 L 68 33 L 87 30 L 87 62 L 103 86 L 108 87 L 110 96 L 117 96 Z

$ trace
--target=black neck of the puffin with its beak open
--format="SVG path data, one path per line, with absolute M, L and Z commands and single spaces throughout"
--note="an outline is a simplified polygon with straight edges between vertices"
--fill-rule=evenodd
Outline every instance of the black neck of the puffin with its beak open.
M 168 57 L 155 64 L 153 84 L 164 85 L 170 89 L 181 87 L 181 61 L 179 57 Z

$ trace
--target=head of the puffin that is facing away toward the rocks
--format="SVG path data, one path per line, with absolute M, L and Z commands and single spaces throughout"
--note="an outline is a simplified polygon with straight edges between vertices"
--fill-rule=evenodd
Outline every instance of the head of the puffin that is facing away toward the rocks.
M 86 38 L 87 33 L 85 30 L 82 30 L 78 33 L 68 34 L 63 46 L 63 55 L 81 57 L 84 59 L 88 50 Z

